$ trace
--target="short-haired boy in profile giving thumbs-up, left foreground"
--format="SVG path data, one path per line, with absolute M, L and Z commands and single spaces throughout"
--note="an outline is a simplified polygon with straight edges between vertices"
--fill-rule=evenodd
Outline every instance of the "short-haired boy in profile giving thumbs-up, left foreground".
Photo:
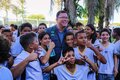
M 21 76 L 25 70 L 25 79 L 21 80 L 43 80 L 40 62 L 38 60 L 38 38 L 36 33 L 26 33 L 20 37 L 20 44 L 24 50 L 15 58 L 11 69 L 14 78 Z M 20 78 L 18 79 L 20 80 Z

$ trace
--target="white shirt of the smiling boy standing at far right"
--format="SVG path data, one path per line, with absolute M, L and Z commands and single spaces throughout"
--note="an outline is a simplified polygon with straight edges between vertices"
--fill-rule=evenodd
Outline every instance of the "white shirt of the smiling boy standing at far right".
M 116 47 L 113 43 L 109 43 L 107 47 L 104 47 L 102 44 L 100 44 L 100 48 L 103 50 L 101 51 L 101 54 L 105 57 L 107 60 L 106 64 L 101 63 L 98 61 L 98 73 L 102 74 L 113 74 L 114 71 L 114 54 L 117 53 Z

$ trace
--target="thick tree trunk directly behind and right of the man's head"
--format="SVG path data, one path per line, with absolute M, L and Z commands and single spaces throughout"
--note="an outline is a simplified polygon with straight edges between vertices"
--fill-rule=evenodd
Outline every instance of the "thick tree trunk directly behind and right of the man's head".
M 77 21 L 77 13 L 75 0 L 64 0 L 65 10 L 68 12 L 71 24 L 75 24 Z

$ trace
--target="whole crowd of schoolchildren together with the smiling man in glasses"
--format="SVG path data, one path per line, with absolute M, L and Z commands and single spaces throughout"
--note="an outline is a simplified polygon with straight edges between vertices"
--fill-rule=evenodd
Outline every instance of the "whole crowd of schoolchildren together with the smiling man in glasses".
M 23 23 L 19 31 L 16 25 L 2 29 L 0 80 L 119 80 L 120 28 L 96 32 L 92 24 L 77 23 L 74 30 L 66 16 L 58 12 L 61 23 L 50 28 Z M 60 25 L 68 27 L 60 31 Z

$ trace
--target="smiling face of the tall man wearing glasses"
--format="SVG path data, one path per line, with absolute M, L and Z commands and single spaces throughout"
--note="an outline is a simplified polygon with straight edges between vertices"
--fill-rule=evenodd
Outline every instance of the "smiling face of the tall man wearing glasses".
M 68 25 L 68 15 L 67 13 L 60 13 L 57 17 L 57 24 L 61 27 L 64 28 Z

